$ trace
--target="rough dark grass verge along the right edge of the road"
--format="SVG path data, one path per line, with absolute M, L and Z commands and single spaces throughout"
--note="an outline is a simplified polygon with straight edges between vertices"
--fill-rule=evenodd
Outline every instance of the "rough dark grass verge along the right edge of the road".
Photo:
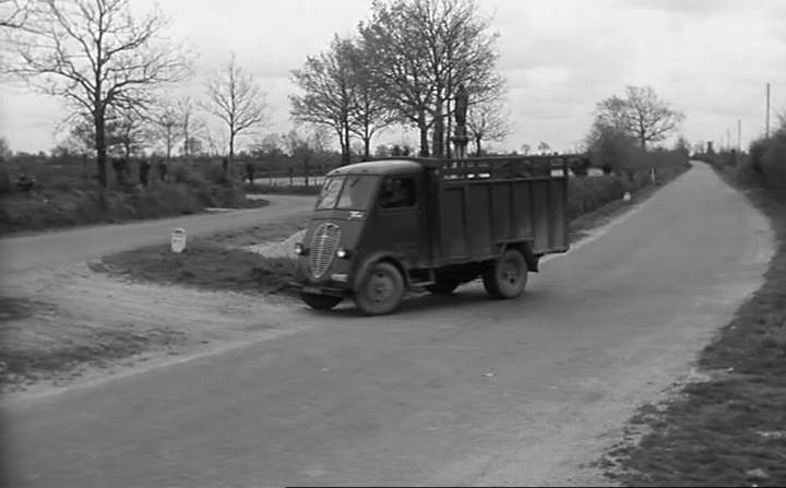
M 603 461 L 622 485 L 786 486 L 786 195 L 741 189 L 776 236 L 764 284 L 702 353 L 706 380 L 643 407 Z

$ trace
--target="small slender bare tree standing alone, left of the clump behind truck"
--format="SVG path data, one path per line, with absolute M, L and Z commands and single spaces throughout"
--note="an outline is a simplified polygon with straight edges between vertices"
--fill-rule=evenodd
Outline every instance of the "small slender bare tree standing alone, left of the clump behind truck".
M 224 68 L 209 80 L 207 99 L 200 105 L 226 124 L 230 165 L 235 158 L 238 135 L 266 120 L 265 97 L 253 76 L 238 66 L 234 53 Z

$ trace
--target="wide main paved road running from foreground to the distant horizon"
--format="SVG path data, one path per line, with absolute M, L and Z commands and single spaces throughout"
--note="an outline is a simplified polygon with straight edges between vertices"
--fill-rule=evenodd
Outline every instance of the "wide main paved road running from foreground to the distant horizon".
M 471 285 L 374 319 L 281 308 L 260 323 L 301 332 L 7 406 L 13 486 L 608 484 L 587 463 L 690 371 L 772 252 L 704 165 L 633 212 L 517 300 Z

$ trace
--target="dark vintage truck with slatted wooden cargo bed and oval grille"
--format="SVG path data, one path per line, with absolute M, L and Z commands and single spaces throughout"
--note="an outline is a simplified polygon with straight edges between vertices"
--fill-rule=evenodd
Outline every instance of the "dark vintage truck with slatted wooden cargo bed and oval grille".
M 327 310 L 346 297 L 391 313 L 406 290 L 451 294 L 478 277 L 522 294 L 541 255 L 565 252 L 571 156 L 390 158 L 326 175 L 294 285 Z

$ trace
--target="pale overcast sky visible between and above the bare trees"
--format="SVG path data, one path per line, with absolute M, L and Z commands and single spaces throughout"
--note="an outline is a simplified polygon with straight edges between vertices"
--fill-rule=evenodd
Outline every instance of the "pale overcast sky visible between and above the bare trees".
M 579 147 L 598 102 L 627 85 L 652 86 L 686 120 L 689 142 L 736 146 L 763 134 L 766 84 L 772 124 L 786 114 L 784 0 L 476 0 L 499 33 L 498 69 L 507 80 L 511 134 L 497 150 L 548 143 Z M 170 19 L 174 41 L 199 56 L 193 79 L 175 95 L 203 96 L 205 78 L 230 52 L 266 93 L 269 121 L 240 140 L 293 129 L 290 71 L 327 49 L 334 34 L 356 33 L 370 0 L 131 0 L 157 5 Z M 51 150 L 64 138 L 57 98 L 19 83 L 0 83 L 0 136 L 14 151 Z M 210 120 L 210 116 L 204 115 Z M 210 122 L 218 130 L 215 122 Z M 388 130 L 373 144 L 417 145 L 412 130 Z M 671 140 L 666 143 L 671 143 Z

